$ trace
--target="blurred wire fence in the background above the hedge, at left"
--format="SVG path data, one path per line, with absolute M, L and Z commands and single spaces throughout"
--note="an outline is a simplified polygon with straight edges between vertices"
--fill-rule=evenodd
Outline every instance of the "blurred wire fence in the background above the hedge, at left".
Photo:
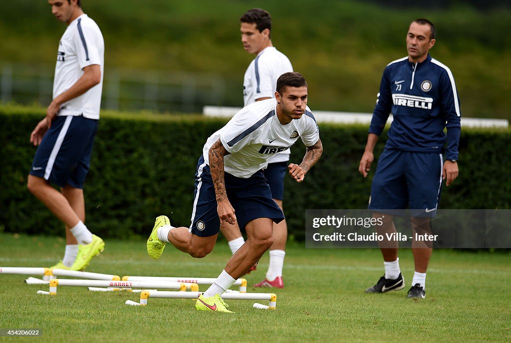
M 54 66 L 9 63 L 0 73 L 0 101 L 51 102 Z M 214 73 L 105 68 L 101 107 L 200 112 L 205 104 L 222 103 L 225 92 L 224 79 Z

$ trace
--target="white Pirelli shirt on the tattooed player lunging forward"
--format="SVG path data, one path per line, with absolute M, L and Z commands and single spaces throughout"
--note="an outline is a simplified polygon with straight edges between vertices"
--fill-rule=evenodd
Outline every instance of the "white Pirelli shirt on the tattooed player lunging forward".
M 220 139 L 229 152 L 224 158 L 224 170 L 237 177 L 249 178 L 266 168 L 275 153 L 289 150 L 301 139 L 306 146 L 319 140 L 319 128 L 309 107 L 300 119 L 282 125 L 276 115 L 277 101 L 267 99 L 243 107 L 220 130 L 207 139 L 202 150 L 209 165 L 211 146 Z

